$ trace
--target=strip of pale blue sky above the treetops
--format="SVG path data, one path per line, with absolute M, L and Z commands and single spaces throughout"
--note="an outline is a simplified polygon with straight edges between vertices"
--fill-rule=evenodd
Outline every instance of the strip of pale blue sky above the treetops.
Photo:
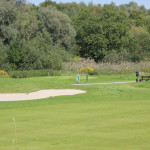
M 45 0 L 28 0 L 28 2 L 30 3 L 34 3 L 35 5 L 39 5 L 41 2 L 44 2 Z M 52 0 L 55 1 L 57 3 L 67 3 L 67 2 L 85 2 L 85 3 L 89 3 L 89 2 L 93 2 L 94 4 L 110 4 L 112 1 L 116 4 L 116 5 L 120 5 L 120 4 L 128 4 L 131 1 L 134 1 L 136 3 L 138 3 L 138 5 L 144 5 L 147 9 L 150 9 L 150 1 L 149 0 Z

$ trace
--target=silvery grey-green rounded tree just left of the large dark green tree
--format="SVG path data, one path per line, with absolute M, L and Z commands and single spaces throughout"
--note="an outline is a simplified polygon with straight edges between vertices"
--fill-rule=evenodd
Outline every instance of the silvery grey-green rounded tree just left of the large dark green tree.
M 38 16 L 51 35 L 53 44 L 64 47 L 69 51 L 76 35 L 70 18 L 51 6 L 40 8 Z

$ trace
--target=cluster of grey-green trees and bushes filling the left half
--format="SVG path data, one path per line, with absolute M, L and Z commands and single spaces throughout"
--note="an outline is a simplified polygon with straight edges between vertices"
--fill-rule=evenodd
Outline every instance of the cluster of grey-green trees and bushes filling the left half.
M 61 70 L 76 34 L 71 19 L 55 7 L 15 0 L 0 1 L 0 33 L 0 68 L 6 71 Z

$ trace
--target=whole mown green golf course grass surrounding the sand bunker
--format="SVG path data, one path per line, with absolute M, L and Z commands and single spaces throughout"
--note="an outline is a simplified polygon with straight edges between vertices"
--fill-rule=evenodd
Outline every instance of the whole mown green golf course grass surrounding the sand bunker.
M 93 76 L 89 82 L 134 80 Z M 85 83 L 82 76 L 82 83 Z M 0 102 L 0 150 L 149 150 L 150 82 L 72 86 L 75 77 L 1 79 L 0 92 L 72 88 L 87 93 Z M 16 137 L 13 117 L 16 120 Z M 17 138 L 17 143 L 12 144 Z

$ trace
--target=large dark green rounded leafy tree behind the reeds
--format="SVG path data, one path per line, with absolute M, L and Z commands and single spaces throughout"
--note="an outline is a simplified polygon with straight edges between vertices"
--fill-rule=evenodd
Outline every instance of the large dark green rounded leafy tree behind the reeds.
M 82 7 L 74 20 L 80 55 L 103 60 L 107 53 L 122 51 L 129 46 L 129 20 L 114 4 Z

